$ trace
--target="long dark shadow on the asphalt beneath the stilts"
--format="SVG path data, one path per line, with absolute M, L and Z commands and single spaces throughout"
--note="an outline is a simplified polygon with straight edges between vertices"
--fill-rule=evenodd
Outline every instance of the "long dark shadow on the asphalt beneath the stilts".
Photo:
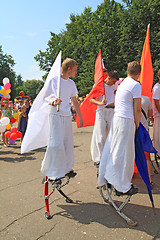
M 132 220 L 138 222 L 136 227 L 131 227 L 109 204 L 89 202 L 57 206 L 63 210 L 56 215 L 73 219 L 81 224 L 91 224 L 96 222 L 107 228 L 135 229 L 146 232 L 152 237 L 157 236 L 160 231 L 160 209 L 156 209 L 156 215 L 154 215 L 151 207 L 129 203 L 124 208 L 123 212 Z

